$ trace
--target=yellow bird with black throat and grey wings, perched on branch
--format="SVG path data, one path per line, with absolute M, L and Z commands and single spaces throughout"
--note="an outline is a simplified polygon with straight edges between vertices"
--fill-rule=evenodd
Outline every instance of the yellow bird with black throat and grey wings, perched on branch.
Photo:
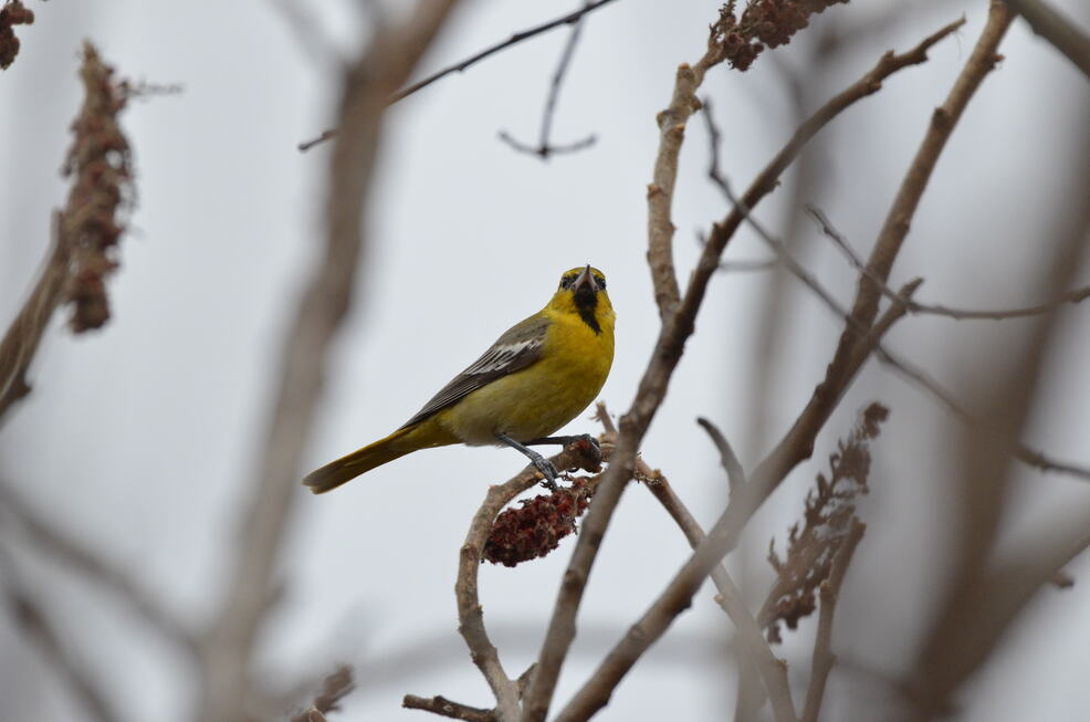
M 614 307 L 606 276 L 586 265 L 560 276 L 548 304 L 506 331 L 397 431 L 307 474 L 315 494 L 398 457 L 450 443 L 509 446 L 556 482 L 556 469 L 528 447 L 549 437 L 598 396 L 614 362 Z

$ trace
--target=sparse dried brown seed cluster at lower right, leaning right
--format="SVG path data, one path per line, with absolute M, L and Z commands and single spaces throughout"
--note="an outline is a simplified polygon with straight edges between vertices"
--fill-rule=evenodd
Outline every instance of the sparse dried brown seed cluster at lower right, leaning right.
M 768 545 L 768 563 L 776 569 L 776 584 L 758 615 L 768 641 L 779 642 L 779 622 L 795 629 L 798 620 L 817 608 L 817 590 L 829 578 L 856 516 L 855 499 L 867 493 L 870 475 L 869 442 L 880 432 L 889 409 L 871 404 L 847 441 L 837 444 L 829 457 L 829 477 L 818 474 L 815 489 L 806 496 L 803 529 L 795 524 L 788 534 L 787 557 L 776 554 L 775 540 Z

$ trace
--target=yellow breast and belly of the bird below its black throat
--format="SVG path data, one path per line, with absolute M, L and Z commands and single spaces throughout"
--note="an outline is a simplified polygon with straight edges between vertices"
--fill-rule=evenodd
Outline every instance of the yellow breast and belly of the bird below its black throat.
M 496 443 L 497 432 L 518 441 L 547 437 L 574 419 L 598 396 L 614 362 L 614 312 L 601 296 L 597 333 L 554 299 L 542 312 L 549 325 L 541 358 L 473 391 L 436 420 L 464 443 L 486 444 Z

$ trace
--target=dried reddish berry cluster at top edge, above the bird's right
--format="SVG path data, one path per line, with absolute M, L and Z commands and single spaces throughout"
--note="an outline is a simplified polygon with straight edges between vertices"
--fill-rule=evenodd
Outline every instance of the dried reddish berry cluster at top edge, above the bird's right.
M 765 48 L 790 42 L 809 24 L 810 15 L 848 0 L 752 0 L 735 18 L 736 0 L 724 3 L 712 25 L 711 42 L 719 45 L 731 67 L 744 71 Z

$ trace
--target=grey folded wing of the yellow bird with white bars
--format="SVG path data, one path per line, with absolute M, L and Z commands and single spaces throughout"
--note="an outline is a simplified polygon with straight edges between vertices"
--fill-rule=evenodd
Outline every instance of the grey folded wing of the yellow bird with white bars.
M 492 347 L 442 387 L 416 416 L 401 428 L 423 421 L 429 416 L 462 400 L 473 391 L 507 374 L 526 368 L 542 355 L 548 318 L 531 316 L 509 328 Z

